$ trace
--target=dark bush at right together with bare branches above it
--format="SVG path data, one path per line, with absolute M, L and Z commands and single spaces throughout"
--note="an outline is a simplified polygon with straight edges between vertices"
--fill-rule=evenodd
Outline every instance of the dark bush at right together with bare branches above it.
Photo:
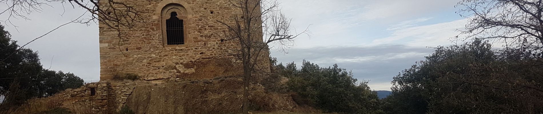
M 543 1 L 463 0 L 453 41 L 394 77 L 386 113 L 543 113 Z M 502 46 L 493 46 L 491 43 Z

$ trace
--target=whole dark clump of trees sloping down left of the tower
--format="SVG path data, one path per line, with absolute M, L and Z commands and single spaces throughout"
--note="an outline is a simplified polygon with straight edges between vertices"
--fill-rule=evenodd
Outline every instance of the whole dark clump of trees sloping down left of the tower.
M 0 96 L 4 96 L 0 110 L 83 85 L 83 79 L 73 73 L 42 69 L 37 52 L 19 48 L 0 25 Z

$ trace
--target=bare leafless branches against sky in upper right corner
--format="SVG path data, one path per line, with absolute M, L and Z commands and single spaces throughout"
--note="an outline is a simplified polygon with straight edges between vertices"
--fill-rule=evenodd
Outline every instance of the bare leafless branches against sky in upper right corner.
M 465 38 L 489 39 L 504 48 L 540 52 L 543 48 L 543 2 L 541 0 L 463 0 L 457 11 L 468 18 Z

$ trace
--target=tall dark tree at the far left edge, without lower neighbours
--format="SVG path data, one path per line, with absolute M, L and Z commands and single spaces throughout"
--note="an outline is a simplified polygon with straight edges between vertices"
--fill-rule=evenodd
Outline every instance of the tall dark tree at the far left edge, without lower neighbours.
M 36 86 L 40 82 L 35 82 L 42 69 L 37 52 L 18 48 L 0 25 L 0 96 L 5 96 L 2 105 L 22 104 L 26 99 L 40 96 Z

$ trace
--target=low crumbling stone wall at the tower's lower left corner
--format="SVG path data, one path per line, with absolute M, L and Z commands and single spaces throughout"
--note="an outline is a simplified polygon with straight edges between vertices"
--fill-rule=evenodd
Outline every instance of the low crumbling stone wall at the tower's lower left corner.
M 62 107 L 78 113 L 116 113 L 136 88 L 134 81 L 89 83 L 77 89 L 66 89 L 43 100 L 61 102 Z

